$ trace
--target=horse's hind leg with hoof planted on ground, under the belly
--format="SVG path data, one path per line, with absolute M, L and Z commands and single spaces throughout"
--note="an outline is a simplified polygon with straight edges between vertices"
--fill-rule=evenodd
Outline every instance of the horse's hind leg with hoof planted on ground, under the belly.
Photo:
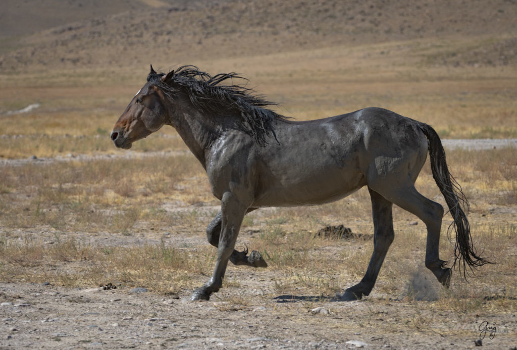
M 381 269 L 386 253 L 388 252 L 388 248 L 394 238 L 393 217 L 391 215 L 393 204 L 370 188 L 369 191 L 372 200 L 374 226 L 373 254 L 361 282 L 353 287 L 347 288 L 345 293 L 340 296 L 341 300 L 344 301 L 360 299 L 363 295 L 370 294 L 377 280 L 377 275 Z

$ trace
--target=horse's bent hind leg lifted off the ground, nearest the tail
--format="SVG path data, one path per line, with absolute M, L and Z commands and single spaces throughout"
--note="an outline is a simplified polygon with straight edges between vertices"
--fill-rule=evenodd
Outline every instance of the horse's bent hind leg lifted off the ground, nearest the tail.
M 427 227 L 425 267 L 434 273 L 440 283 L 449 287 L 452 271 L 450 268 L 445 268 L 445 261 L 440 260 L 438 247 L 444 216 L 442 205 L 421 195 L 413 185 L 399 189 L 392 187 L 384 189 L 383 196 L 424 222 Z

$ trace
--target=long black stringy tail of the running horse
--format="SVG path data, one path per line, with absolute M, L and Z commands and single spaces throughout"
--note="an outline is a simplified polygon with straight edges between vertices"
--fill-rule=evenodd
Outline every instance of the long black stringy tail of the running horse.
M 440 192 L 442 192 L 454 220 L 449 226 L 448 231 L 449 240 L 451 238 L 450 232 L 453 230 L 456 233 L 454 264 L 452 266 L 454 267 L 456 263 L 462 265 L 463 276 L 466 277 L 467 266 L 472 269 L 490 262 L 476 254 L 472 243 L 472 236 L 470 236 L 470 225 L 465 215 L 465 210 L 468 210 L 468 202 L 461 186 L 449 173 L 449 169 L 447 169 L 442 141 L 440 141 L 436 131 L 429 125 L 420 124 L 420 129 L 429 141 L 429 156 L 431 158 L 433 178 Z

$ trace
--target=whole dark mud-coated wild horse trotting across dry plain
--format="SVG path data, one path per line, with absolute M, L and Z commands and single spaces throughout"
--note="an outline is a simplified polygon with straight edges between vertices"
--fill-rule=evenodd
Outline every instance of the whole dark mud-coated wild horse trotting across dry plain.
M 244 86 L 236 73 L 214 77 L 193 66 L 167 74 L 151 66 L 147 83 L 133 97 L 111 133 L 115 146 L 130 148 L 163 125 L 174 127 L 201 162 L 221 210 L 207 229 L 217 247 L 214 274 L 192 300 L 208 299 L 222 285 L 230 260 L 266 267 L 260 253 L 234 250 L 244 216 L 267 206 L 300 206 L 342 199 L 368 186 L 374 250 L 362 280 L 342 300 L 368 295 L 393 241 L 393 204 L 427 226 L 425 266 L 449 286 L 451 269 L 438 257 L 443 207 L 414 187 L 427 153 L 456 232 L 454 265 L 486 261 L 476 255 L 461 188 L 449 174 L 438 135 L 429 125 L 380 108 L 366 108 L 326 119 L 292 121 L 265 109 L 271 104 Z M 231 85 L 224 85 L 230 81 Z

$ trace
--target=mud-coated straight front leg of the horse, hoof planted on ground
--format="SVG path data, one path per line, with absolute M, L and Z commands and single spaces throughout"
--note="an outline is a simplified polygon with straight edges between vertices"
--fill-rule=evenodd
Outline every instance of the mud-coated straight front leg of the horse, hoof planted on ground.
M 208 300 L 210 294 L 219 291 L 219 288 L 221 288 L 224 272 L 234 251 L 235 241 L 247 209 L 248 207 L 234 194 L 224 193 L 221 200 L 221 233 L 217 247 L 216 268 L 210 280 L 202 287 L 197 288 L 192 293 L 190 300 Z

